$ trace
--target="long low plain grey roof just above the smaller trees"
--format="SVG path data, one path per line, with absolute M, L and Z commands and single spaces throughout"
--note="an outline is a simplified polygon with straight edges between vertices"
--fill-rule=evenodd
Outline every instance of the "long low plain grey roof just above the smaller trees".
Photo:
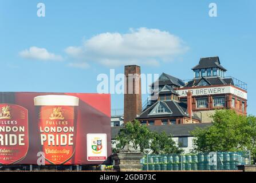
M 208 128 L 212 124 L 204 123 L 204 124 L 179 124 L 179 125 L 152 125 L 147 126 L 151 132 L 166 132 L 166 134 L 172 134 L 173 137 L 192 137 L 190 132 L 195 130 L 196 128 Z M 119 133 L 120 129 L 124 127 L 112 127 L 111 128 L 111 138 L 114 140 Z

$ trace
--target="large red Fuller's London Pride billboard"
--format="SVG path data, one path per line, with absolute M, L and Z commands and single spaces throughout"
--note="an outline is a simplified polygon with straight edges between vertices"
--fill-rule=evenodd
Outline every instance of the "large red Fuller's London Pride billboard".
M 0 165 L 104 164 L 109 94 L 0 93 Z

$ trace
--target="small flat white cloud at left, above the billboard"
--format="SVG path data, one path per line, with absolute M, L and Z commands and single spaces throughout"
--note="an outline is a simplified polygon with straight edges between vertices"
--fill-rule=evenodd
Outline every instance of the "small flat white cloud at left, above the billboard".
M 62 61 L 63 60 L 61 55 L 50 53 L 45 48 L 40 48 L 36 46 L 32 46 L 28 50 L 26 49 L 19 52 L 19 55 L 22 58 L 36 59 L 40 61 Z

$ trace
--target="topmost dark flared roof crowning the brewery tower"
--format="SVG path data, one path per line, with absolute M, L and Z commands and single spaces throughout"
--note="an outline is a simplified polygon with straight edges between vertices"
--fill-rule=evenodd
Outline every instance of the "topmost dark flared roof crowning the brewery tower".
M 224 71 L 227 71 L 222 65 L 220 65 L 219 57 L 206 57 L 200 58 L 199 64 L 192 68 L 195 69 L 207 69 L 212 67 L 218 67 Z

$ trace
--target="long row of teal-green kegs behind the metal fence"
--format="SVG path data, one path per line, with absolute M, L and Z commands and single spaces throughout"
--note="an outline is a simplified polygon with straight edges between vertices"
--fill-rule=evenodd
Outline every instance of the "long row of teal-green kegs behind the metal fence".
M 237 170 L 250 164 L 250 152 L 210 152 L 144 156 L 142 170 Z

